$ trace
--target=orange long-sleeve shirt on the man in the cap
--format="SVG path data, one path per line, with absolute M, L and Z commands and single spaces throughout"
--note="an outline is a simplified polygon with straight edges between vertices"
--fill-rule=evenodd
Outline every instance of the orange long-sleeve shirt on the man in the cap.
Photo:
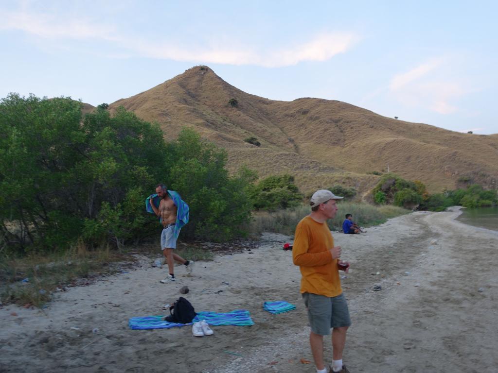
M 342 293 L 339 260 L 332 259 L 330 253 L 333 247 L 334 238 L 326 223 L 306 216 L 297 224 L 292 260 L 301 271 L 301 293 L 329 297 Z

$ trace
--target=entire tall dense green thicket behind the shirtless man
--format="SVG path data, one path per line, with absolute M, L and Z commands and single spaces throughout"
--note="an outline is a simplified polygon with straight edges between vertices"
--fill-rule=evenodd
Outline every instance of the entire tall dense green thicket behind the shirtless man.
M 0 102 L 0 252 L 120 246 L 150 236 L 144 199 L 157 183 L 191 207 L 184 236 L 228 239 L 248 221 L 248 170 L 229 177 L 226 152 L 184 130 L 166 144 L 158 125 L 124 108 L 82 118 L 81 102 L 11 94 Z

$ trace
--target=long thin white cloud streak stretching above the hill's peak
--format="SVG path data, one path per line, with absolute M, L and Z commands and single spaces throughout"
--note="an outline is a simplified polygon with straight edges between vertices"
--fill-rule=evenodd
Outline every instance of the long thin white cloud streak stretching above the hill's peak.
M 117 47 L 125 50 L 119 53 L 111 52 L 110 57 L 129 54 L 174 61 L 264 67 L 291 66 L 303 61 L 326 61 L 346 52 L 359 39 L 353 33 L 322 33 L 299 44 L 262 50 L 237 43 L 236 40 L 229 40 L 229 43 L 221 43 L 218 40 L 196 46 L 129 37 L 120 34 L 116 27 L 111 25 L 85 19 L 62 19 L 60 15 L 35 13 L 30 10 L 0 10 L 0 19 L 3 19 L 0 29 L 20 30 L 42 39 L 101 39 L 114 42 Z

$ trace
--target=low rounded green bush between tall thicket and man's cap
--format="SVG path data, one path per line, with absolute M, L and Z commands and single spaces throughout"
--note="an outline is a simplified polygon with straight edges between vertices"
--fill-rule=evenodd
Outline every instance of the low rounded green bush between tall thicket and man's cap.
M 269 176 L 249 188 L 254 208 L 275 210 L 301 203 L 303 195 L 294 184 L 294 177 L 288 174 Z

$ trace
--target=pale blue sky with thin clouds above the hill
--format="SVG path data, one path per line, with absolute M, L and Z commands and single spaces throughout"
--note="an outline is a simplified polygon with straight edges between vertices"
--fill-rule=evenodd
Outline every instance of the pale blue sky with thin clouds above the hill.
M 0 1 L 0 97 L 94 106 L 207 65 L 251 94 L 498 133 L 497 1 Z

